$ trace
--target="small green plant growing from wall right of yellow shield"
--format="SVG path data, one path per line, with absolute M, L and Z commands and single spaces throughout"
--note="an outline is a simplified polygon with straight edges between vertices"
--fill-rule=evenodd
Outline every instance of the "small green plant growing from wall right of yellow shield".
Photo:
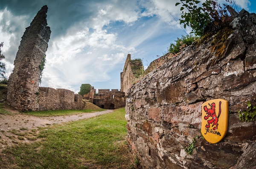
M 247 102 L 246 110 L 238 110 L 238 115 L 241 121 L 255 121 L 256 106 L 253 106 L 250 101 Z

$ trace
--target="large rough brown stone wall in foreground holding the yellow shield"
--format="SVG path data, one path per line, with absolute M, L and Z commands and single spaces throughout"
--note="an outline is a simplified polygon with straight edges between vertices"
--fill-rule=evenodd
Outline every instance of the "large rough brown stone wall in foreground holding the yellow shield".
M 256 15 L 241 11 L 231 25 L 233 32 L 189 46 L 128 91 L 128 144 L 143 169 L 255 168 L 256 122 L 237 112 L 247 101 L 256 106 Z M 200 132 L 201 105 L 217 98 L 229 101 L 228 131 L 210 144 Z

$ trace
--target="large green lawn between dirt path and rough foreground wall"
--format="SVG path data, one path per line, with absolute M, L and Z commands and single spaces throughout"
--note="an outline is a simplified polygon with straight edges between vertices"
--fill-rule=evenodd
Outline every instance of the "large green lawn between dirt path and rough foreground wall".
M 135 169 L 126 143 L 125 109 L 39 129 L 41 141 L 3 149 L 0 168 Z

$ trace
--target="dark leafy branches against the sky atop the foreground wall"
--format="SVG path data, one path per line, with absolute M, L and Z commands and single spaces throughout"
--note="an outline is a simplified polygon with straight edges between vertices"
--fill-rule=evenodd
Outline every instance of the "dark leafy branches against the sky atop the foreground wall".
M 232 0 L 225 0 L 232 3 Z M 190 26 L 191 33 L 202 36 L 206 31 L 216 31 L 228 25 L 230 16 L 225 8 L 222 8 L 217 0 L 206 0 L 199 6 L 199 0 L 180 0 L 175 6 L 182 5 L 180 24 Z M 223 4 L 226 7 L 226 4 Z

